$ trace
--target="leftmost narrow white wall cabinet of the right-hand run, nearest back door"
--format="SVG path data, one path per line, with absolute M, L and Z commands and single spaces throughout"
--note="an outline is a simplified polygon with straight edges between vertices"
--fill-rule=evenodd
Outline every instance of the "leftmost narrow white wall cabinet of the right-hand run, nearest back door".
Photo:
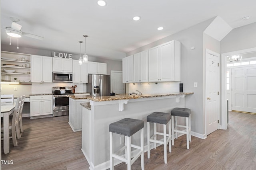
M 133 82 L 133 55 L 123 58 L 123 83 Z

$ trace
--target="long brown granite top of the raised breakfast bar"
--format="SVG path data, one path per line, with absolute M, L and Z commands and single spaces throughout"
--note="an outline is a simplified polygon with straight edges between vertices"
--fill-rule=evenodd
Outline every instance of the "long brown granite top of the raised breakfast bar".
M 142 94 L 139 95 L 116 95 L 116 96 L 100 96 L 100 97 L 93 97 L 89 96 L 88 99 L 94 102 L 105 102 L 105 101 L 112 101 L 112 100 L 129 100 L 129 99 L 141 99 L 141 98 L 155 98 L 155 97 L 164 97 L 164 96 L 179 96 L 179 95 L 188 95 L 194 94 L 194 92 L 173 92 L 173 93 L 158 93 L 158 94 Z

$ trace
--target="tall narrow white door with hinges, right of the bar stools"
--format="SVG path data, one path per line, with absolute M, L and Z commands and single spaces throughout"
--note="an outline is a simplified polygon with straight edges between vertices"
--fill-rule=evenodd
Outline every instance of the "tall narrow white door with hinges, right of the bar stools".
M 206 134 L 218 129 L 220 114 L 220 55 L 206 50 Z

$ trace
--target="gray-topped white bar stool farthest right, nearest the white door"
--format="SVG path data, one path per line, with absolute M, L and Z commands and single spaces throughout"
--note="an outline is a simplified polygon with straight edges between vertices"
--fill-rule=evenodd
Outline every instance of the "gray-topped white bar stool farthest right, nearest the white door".
M 189 149 L 189 141 L 191 142 L 191 119 L 190 119 L 191 110 L 187 108 L 176 107 L 172 109 L 172 145 L 174 145 L 174 132 L 176 132 L 176 139 L 178 139 L 178 133 L 184 133 L 187 135 L 187 149 Z M 186 126 L 178 125 L 177 117 L 186 117 Z M 175 127 L 174 127 L 175 119 Z M 178 127 L 186 128 L 186 131 L 178 130 Z M 189 140 L 189 141 L 188 141 Z

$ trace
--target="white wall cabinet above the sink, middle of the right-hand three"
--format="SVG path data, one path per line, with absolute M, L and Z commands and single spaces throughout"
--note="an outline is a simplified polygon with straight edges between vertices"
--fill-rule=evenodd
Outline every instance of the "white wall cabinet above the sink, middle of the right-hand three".
M 134 82 L 148 82 L 148 51 L 133 55 Z

